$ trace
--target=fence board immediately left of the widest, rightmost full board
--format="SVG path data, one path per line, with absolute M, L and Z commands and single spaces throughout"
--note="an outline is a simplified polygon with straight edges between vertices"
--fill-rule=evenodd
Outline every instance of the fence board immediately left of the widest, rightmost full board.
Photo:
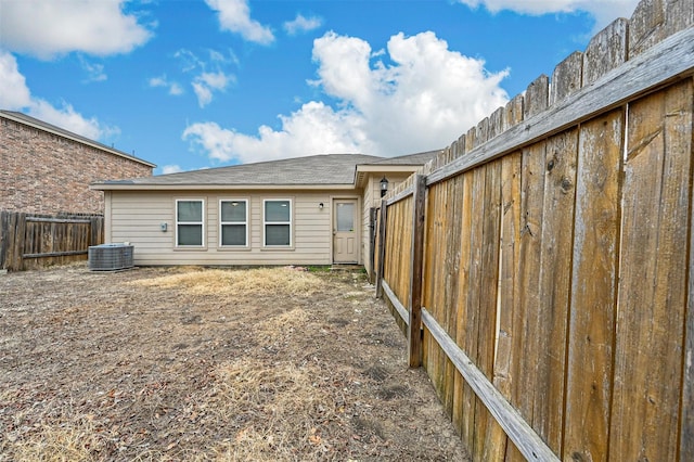
M 582 125 L 577 166 L 564 453 L 596 462 L 607 460 L 624 119 Z

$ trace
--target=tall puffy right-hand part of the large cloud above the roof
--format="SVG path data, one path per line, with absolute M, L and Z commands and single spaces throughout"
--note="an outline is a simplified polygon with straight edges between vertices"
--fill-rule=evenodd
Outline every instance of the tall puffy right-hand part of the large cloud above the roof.
M 434 33 L 393 36 L 389 66 L 370 66 L 370 50 L 331 33 L 314 41 L 313 59 L 325 91 L 364 117 L 377 154 L 442 147 L 507 101 L 499 86 L 506 72 L 487 73 L 484 61 L 450 51 Z

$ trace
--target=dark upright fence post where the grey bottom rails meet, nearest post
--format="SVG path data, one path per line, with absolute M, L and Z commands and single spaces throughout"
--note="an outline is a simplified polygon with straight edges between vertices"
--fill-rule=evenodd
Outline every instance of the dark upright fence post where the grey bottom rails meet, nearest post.
M 415 175 L 412 197 L 412 255 L 410 256 L 410 322 L 408 357 L 410 368 L 422 365 L 422 268 L 424 260 L 424 213 L 426 177 Z

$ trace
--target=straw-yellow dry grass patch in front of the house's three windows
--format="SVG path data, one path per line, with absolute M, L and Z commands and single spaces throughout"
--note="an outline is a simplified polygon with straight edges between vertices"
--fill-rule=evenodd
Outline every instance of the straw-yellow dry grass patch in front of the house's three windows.
M 146 287 L 185 288 L 193 295 L 255 295 L 283 293 L 311 295 L 323 282 L 314 274 L 295 268 L 250 270 L 200 269 L 132 282 Z

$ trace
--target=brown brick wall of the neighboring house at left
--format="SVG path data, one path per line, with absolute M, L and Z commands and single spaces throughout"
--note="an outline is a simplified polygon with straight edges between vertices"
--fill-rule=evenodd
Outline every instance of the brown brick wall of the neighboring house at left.
M 152 167 L 0 117 L 0 209 L 103 214 L 97 180 L 149 177 Z

